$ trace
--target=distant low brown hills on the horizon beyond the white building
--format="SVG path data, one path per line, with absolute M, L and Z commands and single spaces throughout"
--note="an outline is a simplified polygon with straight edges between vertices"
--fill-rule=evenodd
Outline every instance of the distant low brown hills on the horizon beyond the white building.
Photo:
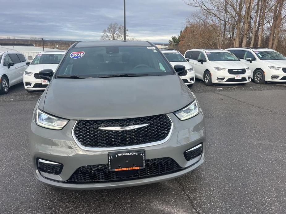
M 44 45 L 47 48 L 67 50 L 70 45 L 77 41 L 72 40 L 45 40 Z M 43 47 L 42 39 L 0 39 L 0 43 L 25 43 L 25 44 L 34 44 L 35 47 Z

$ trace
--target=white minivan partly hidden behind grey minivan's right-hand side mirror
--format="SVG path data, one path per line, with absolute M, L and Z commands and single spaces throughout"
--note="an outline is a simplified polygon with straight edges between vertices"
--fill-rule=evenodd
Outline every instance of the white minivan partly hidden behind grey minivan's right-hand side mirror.
M 168 59 L 170 64 L 183 65 L 186 67 L 184 72 L 179 73 L 179 76 L 186 85 L 192 86 L 195 82 L 195 74 L 192 65 L 181 55 L 179 51 L 175 50 L 161 50 L 164 56 Z

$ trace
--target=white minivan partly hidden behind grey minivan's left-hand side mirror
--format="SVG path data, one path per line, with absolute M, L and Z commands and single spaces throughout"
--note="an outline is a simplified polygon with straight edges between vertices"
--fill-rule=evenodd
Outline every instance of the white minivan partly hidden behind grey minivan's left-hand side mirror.
M 43 51 L 37 54 L 23 74 L 25 89 L 28 92 L 45 90 L 49 81 L 43 80 L 39 75 L 39 71 L 49 68 L 55 72 L 65 53 L 66 51 Z

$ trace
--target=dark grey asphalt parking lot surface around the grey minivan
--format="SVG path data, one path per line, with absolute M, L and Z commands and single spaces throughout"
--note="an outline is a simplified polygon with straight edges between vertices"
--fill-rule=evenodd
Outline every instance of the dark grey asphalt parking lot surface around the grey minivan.
M 0 95 L 0 213 L 285 213 L 286 84 L 197 81 L 207 124 L 206 160 L 170 181 L 71 191 L 37 181 L 28 129 L 42 92 Z

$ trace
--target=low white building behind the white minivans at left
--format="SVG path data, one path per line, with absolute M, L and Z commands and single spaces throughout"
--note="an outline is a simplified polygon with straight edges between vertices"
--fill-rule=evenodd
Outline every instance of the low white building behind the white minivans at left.
M 59 50 L 59 49 L 57 49 Z M 43 47 L 34 47 L 32 44 L 4 44 L 0 43 L 0 52 L 1 51 L 19 51 L 20 53 L 24 54 L 26 59 L 29 62 L 32 62 L 34 57 L 41 51 L 43 51 Z M 45 48 L 45 51 L 55 51 L 55 49 L 52 48 Z M 59 50 L 61 51 L 61 50 Z

